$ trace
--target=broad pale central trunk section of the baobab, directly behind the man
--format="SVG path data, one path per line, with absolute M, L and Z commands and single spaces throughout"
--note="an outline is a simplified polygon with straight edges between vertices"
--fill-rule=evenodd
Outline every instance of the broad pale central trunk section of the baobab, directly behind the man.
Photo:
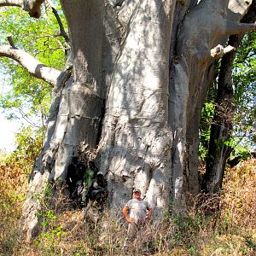
M 134 187 L 155 209 L 171 192 L 172 131 L 168 120 L 168 62 L 173 1 L 137 1 L 113 68 L 100 169 L 108 172 L 110 205 L 121 207 Z

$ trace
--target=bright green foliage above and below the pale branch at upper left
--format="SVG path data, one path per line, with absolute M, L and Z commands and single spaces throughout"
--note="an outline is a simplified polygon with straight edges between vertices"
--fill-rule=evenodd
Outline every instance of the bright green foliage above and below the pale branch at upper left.
M 66 20 L 57 6 L 64 26 Z M 9 44 L 7 36 L 12 36 L 19 49 L 35 56 L 49 67 L 61 69 L 65 63 L 65 41 L 59 34 L 59 25 L 51 8 L 45 4 L 42 17 L 32 19 L 20 8 L 1 8 L 0 45 Z M 0 108 L 9 110 L 9 118 L 38 115 L 45 119 L 49 112 L 49 84 L 34 79 L 18 63 L 9 58 L 0 58 L 3 94 Z

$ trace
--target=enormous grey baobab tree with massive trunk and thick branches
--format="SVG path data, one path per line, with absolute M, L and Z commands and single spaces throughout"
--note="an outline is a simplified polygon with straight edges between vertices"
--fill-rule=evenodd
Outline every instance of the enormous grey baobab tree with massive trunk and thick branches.
M 2 0 L 40 16 L 44 0 Z M 49 3 L 49 1 L 48 1 Z M 30 178 L 23 211 L 27 238 L 39 230 L 40 200 L 49 183 L 65 183 L 73 155 L 96 160 L 108 177 L 108 207 L 142 189 L 155 218 L 200 191 L 201 108 L 214 63 L 234 50 L 232 34 L 252 1 L 61 0 L 70 45 L 61 71 L 46 67 L 9 38 L 0 56 L 13 58 L 52 85 L 44 148 Z M 51 3 L 49 3 L 51 4 Z M 56 15 L 57 17 L 57 15 Z M 60 20 L 59 20 L 60 21 Z M 61 24 L 61 23 L 60 23 Z

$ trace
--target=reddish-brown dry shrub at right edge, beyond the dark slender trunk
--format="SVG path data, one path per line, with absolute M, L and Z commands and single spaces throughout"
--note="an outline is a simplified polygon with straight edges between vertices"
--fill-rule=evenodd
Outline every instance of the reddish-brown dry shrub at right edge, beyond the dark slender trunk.
M 227 169 L 221 199 L 221 218 L 227 215 L 234 227 L 256 226 L 256 160 Z

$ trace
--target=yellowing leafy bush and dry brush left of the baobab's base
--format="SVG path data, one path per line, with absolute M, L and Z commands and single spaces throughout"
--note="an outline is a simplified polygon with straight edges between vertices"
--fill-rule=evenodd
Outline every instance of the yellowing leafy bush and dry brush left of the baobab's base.
M 42 131 L 27 127 L 16 135 L 15 152 L 0 156 L 0 253 L 13 250 L 28 176 L 42 145 Z

